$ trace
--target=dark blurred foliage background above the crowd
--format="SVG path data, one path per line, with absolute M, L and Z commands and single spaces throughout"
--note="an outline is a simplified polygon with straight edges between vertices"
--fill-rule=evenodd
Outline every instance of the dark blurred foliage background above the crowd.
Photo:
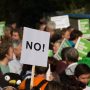
M 90 13 L 90 0 L 0 0 L 0 20 L 16 19 L 34 27 L 44 15 L 55 13 Z

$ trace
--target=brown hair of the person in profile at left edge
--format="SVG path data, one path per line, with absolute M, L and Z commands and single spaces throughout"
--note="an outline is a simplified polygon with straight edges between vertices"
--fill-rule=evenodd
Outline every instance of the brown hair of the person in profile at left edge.
M 8 54 L 8 50 L 11 46 L 11 41 L 2 41 L 0 44 L 0 61 L 5 58 L 6 54 Z

